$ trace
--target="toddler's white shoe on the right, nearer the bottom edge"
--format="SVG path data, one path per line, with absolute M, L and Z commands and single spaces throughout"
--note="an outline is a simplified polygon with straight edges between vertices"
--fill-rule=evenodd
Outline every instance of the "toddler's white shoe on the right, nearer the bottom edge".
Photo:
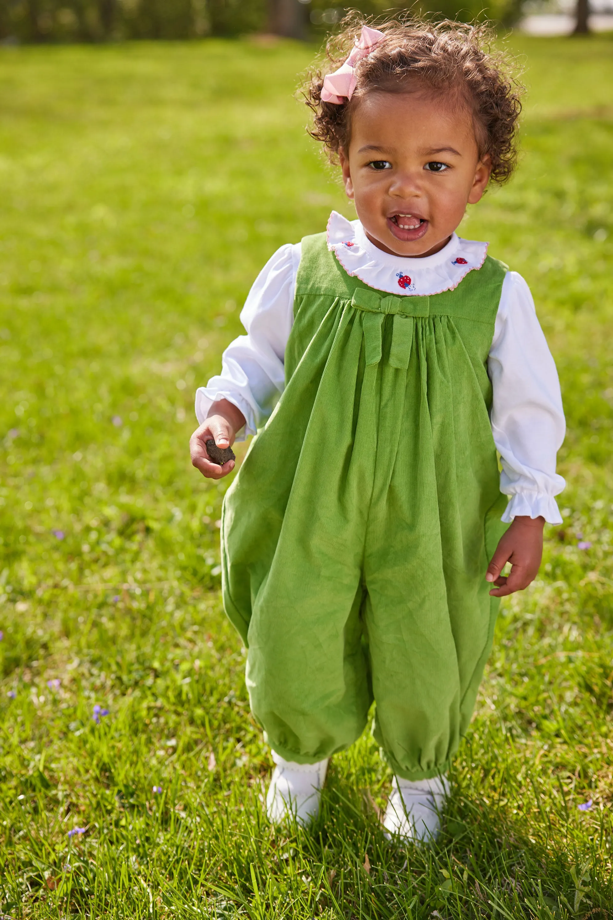
M 392 793 L 388 801 L 383 826 L 392 834 L 414 843 L 437 839 L 440 827 L 439 814 L 449 793 L 449 783 L 444 777 L 434 779 L 408 779 L 393 777 Z

